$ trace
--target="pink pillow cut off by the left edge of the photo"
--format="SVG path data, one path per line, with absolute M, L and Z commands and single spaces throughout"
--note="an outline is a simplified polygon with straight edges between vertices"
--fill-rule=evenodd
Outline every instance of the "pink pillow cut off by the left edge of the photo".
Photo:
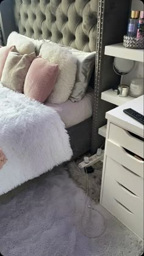
M 5 61 L 7 60 L 7 56 L 9 52 L 12 52 L 12 50 L 15 49 L 15 46 L 4 46 L 2 47 L 0 45 L 0 80 L 2 77 L 2 71 L 4 69 Z

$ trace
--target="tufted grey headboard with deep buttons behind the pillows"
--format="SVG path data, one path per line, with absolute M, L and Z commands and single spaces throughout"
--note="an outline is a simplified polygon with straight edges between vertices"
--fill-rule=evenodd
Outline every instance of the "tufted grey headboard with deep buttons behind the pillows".
M 51 39 L 85 52 L 96 50 L 98 0 L 4 0 L 2 33 L 15 30 L 34 39 Z

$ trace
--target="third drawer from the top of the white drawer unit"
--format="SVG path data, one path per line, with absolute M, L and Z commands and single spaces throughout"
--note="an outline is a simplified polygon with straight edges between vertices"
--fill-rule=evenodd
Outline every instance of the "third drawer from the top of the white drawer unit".
M 117 163 L 110 157 L 106 160 L 106 175 L 117 180 L 132 193 L 143 200 L 143 178 Z

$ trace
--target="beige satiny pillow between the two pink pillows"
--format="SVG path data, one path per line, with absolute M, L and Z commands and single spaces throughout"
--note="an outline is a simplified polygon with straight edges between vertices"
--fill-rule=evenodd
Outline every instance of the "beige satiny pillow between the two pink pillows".
M 34 58 L 35 53 L 20 55 L 20 53 L 10 52 L 2 72 L 2 85 L 23 93 L 24 80 Z

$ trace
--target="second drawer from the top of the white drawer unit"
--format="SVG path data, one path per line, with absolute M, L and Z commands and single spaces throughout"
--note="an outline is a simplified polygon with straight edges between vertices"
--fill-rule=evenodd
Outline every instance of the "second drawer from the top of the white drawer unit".
M 107 141 L 106 154 L 124 167 L 143 177 L 143 161 L 133 157 L 120 145 Z

